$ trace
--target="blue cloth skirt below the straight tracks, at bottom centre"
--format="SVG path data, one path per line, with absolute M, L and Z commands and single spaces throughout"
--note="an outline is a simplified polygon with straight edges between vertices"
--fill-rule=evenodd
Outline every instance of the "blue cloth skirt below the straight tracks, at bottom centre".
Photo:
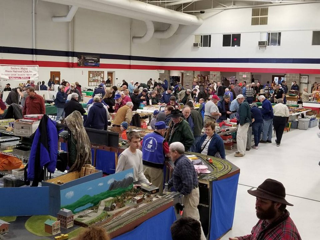
M 172 240 L 170 227 L 175 220 L 174 208 L 170 207 L 113 240 Z

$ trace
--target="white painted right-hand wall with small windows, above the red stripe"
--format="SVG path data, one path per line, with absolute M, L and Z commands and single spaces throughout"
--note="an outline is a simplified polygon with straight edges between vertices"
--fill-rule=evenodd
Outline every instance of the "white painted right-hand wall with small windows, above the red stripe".
M 174 58 L 319 58 L 320 46 L 312 46 L 312 30 L 320 30 L 320 4 L 271 6 L 268 25 L 251 26 L 252 9 L 235 9 L 204 13 L 199 27 L 180 26 L 174 36 L 161 42 L 162 57 Z M 308 17 L 305 17 L 305 13 Z M 281 32 L 281 46 L 259 50 L 260 32 Z M 222 47 L 223 34 L 241 33 L 240 47 Z M 211 47 L 193 48 L 194 35 L 211 34 Z M 178 63 L 164 63 L 166 66 Z M 179 63 L 191 66 L 189 63 Z M 248 64 L 192 63 L 194 66 L 247 67 Z M 256 68 L 272 64 L 249 64 Z M 277 68 L 290 64 L 278 65 Z M 291 65 L 292 68 L 318 68 L 312 65 Z

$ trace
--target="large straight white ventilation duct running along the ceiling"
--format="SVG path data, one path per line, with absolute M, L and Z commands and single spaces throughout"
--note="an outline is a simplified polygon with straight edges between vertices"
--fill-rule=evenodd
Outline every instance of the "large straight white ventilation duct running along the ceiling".
M 78 6 L 99 12 L 107 12 L 138 20 L 200 26 L 203 20 L 197 16 L 173 11 L 136 0 L 43 0 L 46 2 Z

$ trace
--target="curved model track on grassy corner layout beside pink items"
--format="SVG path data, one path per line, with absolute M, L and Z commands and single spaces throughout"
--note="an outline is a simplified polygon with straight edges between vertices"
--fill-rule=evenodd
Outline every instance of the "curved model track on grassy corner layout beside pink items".
M 194 155 L 202 158 L 203 160 L 206 160 L 209 156 L 193 153 Z M 206 164 L 210 165 L 213 169 L 213 171 L 209 174 L 201 175 L 199 177 L 199 180 L 208 180 L 208 181 L 214 181 L 217 180 L 219 177 L 226 175 L 228 172 L 231 171 L 232 166 L 224 161 L 224 159 L 217 158 L 217 157 L 210 157 L 212 159 L 212 164 L 208 161 L 205 161 Z

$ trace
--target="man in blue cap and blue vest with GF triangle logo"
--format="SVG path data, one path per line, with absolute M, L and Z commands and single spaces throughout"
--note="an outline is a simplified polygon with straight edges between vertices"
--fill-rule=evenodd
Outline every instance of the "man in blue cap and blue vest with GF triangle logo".
M 155 124 L 155 131 L 148 133 L 141 141 L 143 173 L 152 185 L 163 192 L 163 168 L 165 156 L 170 157 L 169 144 L 163 137 L 168 126 L 164 121 Z

